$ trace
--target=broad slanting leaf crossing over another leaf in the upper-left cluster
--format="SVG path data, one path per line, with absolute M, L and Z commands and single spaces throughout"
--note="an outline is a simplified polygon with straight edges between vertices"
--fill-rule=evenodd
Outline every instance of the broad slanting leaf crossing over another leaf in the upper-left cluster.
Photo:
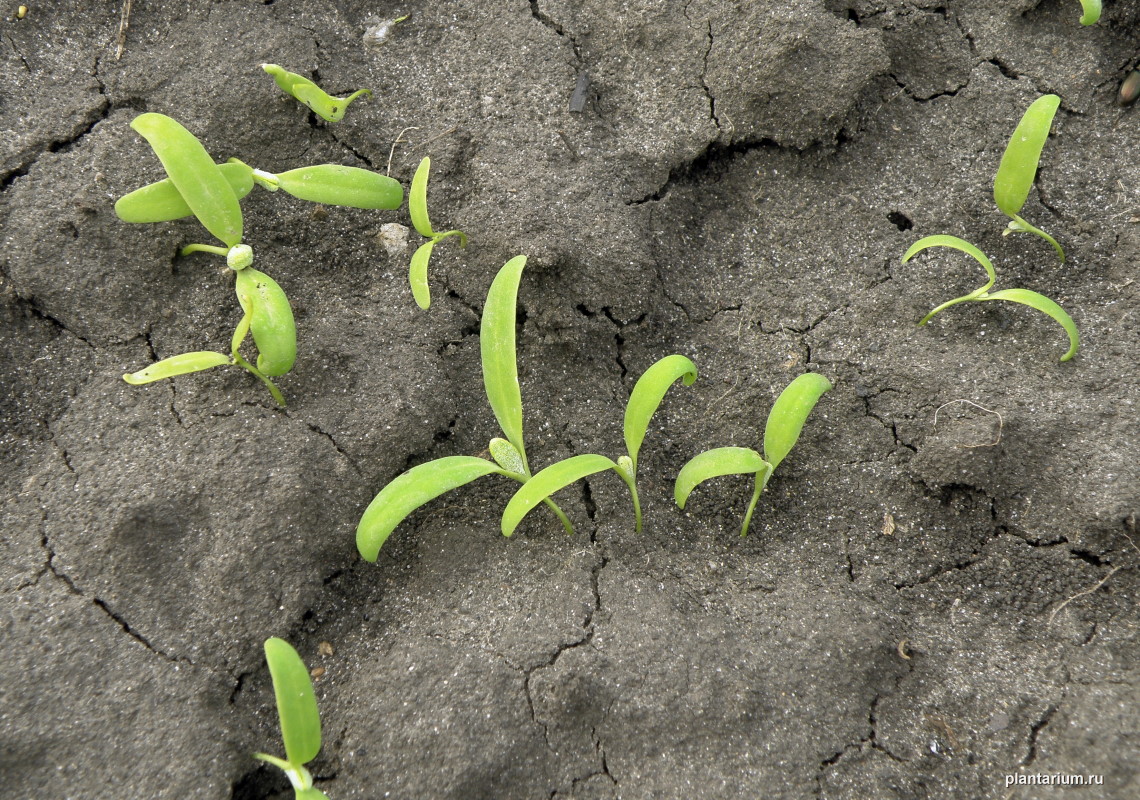
M 164 114 L 140 114 L 131 128 L 149 142 L 194 215 L 228 246 L 242 240 L 242 206 L 202 142 Z

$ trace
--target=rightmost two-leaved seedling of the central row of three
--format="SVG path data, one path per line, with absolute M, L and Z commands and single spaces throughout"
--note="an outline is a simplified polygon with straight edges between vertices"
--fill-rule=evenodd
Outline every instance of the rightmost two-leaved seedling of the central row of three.
M 764 426 L 764 456 L 749 448 L 719 447 L 690 459 L 681 467 L 673 489 L 677 506 L 684 508 L 693 489 L 710 477 L 755 475 L 752 499 L 748 503 L 744 524 L 740 529 L 740 534 L 746 536 L 760 492 L 768 484 L 768 479 L 780 466 L 780 462 L 796 446 L 807 415 L 815 408 L 820 397 L 830 389 L 831 382 L 814 373 L 800 375 L 788 384 L 768 411 L 768 421 Z

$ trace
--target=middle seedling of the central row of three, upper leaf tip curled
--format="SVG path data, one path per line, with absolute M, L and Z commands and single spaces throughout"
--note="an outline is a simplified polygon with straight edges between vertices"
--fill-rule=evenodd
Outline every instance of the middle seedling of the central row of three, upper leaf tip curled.
M 572 456 L 540 471 L 527 481 L 507 503 L 503 512 L 503 536 L 511 536 L 522 519 L 539 503 L 583 477 L 605 470 L 613 470 L 629 488 L 634 504 L 634 530 L 641 532 L 642 512 L 637 497 L 637 452 L 645 440 L 649 422 L 665 393 L 678 379 L 686 386 L 697 381 L 697 367 L 684 356 L 666 356 L 637 379 L 626 406 L 625 439 L 627 455 L 612 462 L 605 456 L 587 454 Z

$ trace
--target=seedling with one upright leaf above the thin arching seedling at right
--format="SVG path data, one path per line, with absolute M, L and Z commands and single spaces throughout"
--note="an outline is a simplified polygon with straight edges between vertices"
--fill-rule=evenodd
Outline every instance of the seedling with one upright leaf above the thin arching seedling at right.
M 1019 231 L 1040 236 L 1053 246 L 1064 263 L 1065 251 L 1057 240 L 1019 217 L 1025 201 L 1029 197 L 1029 189 L 1033 188 L 1041 150 L 1045 146 L 1045 139 L 1049 138 L 1049 128 L 1060 104 L 1061 98 L 1057 95 L 1044 95 L 1026 109 L 997 166 L 997 174 L 994 177 L 994 202 L 1001 212 L 1010 218 L 1009 226 L 1002 231 L 1003 236 Z

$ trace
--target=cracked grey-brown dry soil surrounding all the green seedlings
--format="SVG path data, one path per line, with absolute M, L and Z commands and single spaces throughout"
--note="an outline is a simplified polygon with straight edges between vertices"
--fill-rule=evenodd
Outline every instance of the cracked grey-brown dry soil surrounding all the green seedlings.
M 292 797 L 250 757 L 280 750 L 269 636 L 324 669 L 333 800 L 1140 797 L 1140 112 L 1113 104 L 1137 2 L 1084 28 L 1075 0 L 136 0 L 116 57 L 121 7 L 0 23 L 6 798 Z M 262 62 L 375 93 L 325 124 Z M 1064 264 L 991 196 L 1044 92 L 1024 215 Z M 406 183 L 430 155 L 471 246 L 437 248 L 424 312 L 376 239 L 405 210 L 255 190 L 288 408 L 237 369 L 129 386 L 238 317 L 220 262 L 177 255 L 193 220 L 114 215 L 162 177 L 144 111 L 271 171 L 391 157 Z M 1061 303 L 1080 354 L 1012 304 L 915 327 L 982 279 L 901 264 L 930 234 Z M 573 536 L 536 513 L 504 539 L 487 479 L 365 563 L 381 487 L 498 435 L 478 323 L 520 253 L 536 466 L 619 455 L 658 358 L 701 372 L 642 451 L 645 530 L 606 474 L 560 495 Z M 757 447 L 805 370 L 834 390 L 751 533 L 743 479 L 678 511 L 681 465 Z M 1069 773 L 1104 784 L 1005 787 Z

